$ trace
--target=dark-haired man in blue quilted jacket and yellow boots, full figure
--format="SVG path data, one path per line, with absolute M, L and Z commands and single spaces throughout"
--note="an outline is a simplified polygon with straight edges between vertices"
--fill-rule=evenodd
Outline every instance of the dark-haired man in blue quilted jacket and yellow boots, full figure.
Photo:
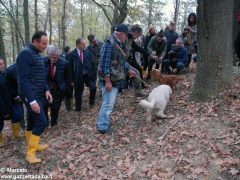
M 32 43 L 24 47 L 17 57 L 19 95 L 31 117 L 28 119 L 25 132 L 28 143 L 26 160 L 29 163 L 41 162 L 41 159 L 36 157 L 36 151 L 48 148 L 48 145 L 39 144 L 40 135 L 48 127 L 45 104 L 46 101 L 52 102 L 44 61 L 39 54 L 47 48 L 47 45 L 47 34 L 38 31 L 32 36 Z

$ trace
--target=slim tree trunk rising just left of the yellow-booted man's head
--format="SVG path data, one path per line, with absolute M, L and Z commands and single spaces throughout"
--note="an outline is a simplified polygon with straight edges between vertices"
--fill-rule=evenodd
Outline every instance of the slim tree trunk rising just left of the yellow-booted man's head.
M 23 18 L 24 18 L 24 29 L 25 29 L 25 44 L 27 44 L 30 42 L 28 0 L 23 1 Z

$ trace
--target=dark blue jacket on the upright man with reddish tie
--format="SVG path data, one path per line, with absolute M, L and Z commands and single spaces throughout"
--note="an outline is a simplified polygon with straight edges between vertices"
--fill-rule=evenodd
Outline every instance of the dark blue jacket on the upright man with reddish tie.
M 66 59 L 69 61 L 70 71 L 74 86 L 80 86 L 83 81 L 83 71 L 85 70 L 88 78 L 96 80 L 95 65 L 88 50 L 83 51 L 83 63 L 80 60 L 77 49 L 71 51 Z

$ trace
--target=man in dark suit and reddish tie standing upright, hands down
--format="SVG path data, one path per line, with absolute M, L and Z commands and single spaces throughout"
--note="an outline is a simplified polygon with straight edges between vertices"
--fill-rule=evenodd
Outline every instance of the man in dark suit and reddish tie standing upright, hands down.
M 94 106 L 96 95 L 96 73 L 91 54 L 85 49 L 83 38 L 76 40 L 76 48 L 67 55 L 75 88 L 75 110 L 81 111 L 84 83 L 89 87 L 90 107 Z

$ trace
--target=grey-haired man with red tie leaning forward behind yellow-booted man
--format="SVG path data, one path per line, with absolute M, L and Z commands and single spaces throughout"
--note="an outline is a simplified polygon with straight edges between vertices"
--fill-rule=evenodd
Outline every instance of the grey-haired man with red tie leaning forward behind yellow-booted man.
M 53 102 L 49 104 L 51 111 L 51 126 L 57 125 L 58 112 L 64 94 L 69 85 L 73 86 L 67 61 L 59 55 L 60 50 L 54 46 L 50 46 L 48 48 L 48 56 L 44 60 L 48 74 L 48 87 L 53 96 Z

